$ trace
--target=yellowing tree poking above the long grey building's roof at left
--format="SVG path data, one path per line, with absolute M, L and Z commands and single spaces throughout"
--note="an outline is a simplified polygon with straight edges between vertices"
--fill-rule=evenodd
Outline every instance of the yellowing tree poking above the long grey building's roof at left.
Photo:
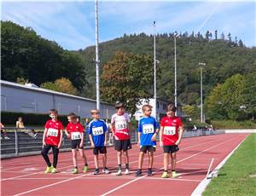
M 77 95 L 77 89 L 74 88 L 73 84 L 67 78 L 56 79 L 55 83 L 46 82 L 40 85 L 43 89 L 51 89 L 62 93 L 67 93 L 70 95 Z

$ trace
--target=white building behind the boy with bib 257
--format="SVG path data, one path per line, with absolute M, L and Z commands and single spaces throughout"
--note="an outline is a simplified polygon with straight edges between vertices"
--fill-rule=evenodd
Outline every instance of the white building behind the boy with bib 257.
M 165 99 L 157 98 L 156 99 L 156 110 L 154 108 L 154 99 L 149 99 L 148 101 L 143 99 L 141 104 L 137 104 L 137 112 L 135 113 L 135 118 L 138 120 L 143 116 L 142 107 L 145 104 L 151 105 L 152 108 L 152 116 L 156 117 L 157 120 L 166 116 L 166 107 L 170 103 Z M 177 116 L 182 116 L 182 107 L 180 105 L 177 106 Z

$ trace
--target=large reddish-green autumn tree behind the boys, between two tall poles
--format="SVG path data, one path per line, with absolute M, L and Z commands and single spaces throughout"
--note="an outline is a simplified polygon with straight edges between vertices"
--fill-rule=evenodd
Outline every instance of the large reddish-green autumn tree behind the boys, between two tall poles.
M 148 55 L 116 53 L 102 69 L 103 100 L 122 101 L 133 114 L 141 99 L 152 97 L 153 71 L 153 60 Z

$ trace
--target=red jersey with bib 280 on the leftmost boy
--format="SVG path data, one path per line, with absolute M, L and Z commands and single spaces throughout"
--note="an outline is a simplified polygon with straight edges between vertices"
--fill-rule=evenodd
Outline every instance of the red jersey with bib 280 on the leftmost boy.
M 45 143 L 53 146 L 58 146 L 61 140 L 61 130 L 63 130 L 63 125 L 61 121 L 48 120 L 45 124 L 45 129 L 47 129 L 45 135 Z

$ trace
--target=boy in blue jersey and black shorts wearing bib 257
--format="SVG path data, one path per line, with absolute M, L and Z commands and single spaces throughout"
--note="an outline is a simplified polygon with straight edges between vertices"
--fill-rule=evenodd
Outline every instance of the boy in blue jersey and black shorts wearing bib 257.
M 142 176 L 142 166 L 144 153 L 148 152 L 148 176 L 152 176 L 152 166 L 154 162 L 154 151 L 156 148 L 156 136 L 159 132 L 159 124 L 154 117 L 151 117 L 152 107 L 150 105 L 144 105 L 143 118 L 138 123 L 138 142 L 140 147 L 140 155 L 138 162 L 138 170 L 136 176 Z

